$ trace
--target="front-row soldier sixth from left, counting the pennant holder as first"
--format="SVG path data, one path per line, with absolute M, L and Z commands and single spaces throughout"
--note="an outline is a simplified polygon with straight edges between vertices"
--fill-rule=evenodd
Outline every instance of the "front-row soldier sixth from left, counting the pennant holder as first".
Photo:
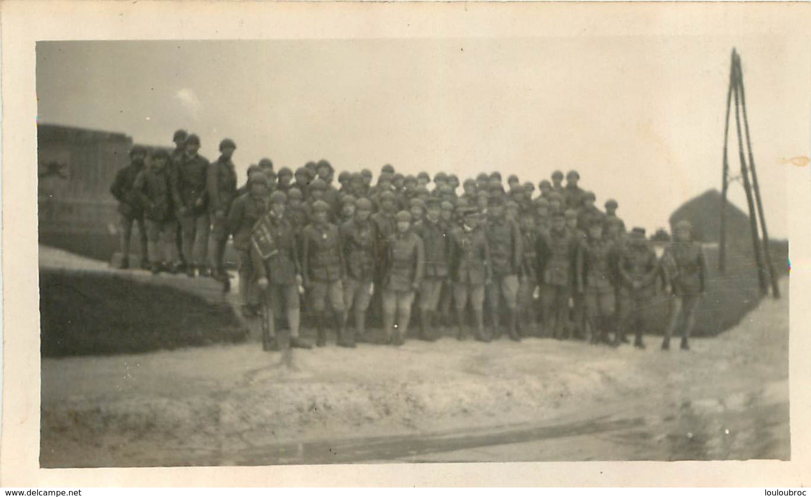
M 476 323 L 474 336 L 482 342 L 490 337 L 484 331 L 484 293 L 491 283 L 490 250 L 479 225 L 475 207 L 457 208 L 461 225 L 451 231 L 450 272 L 453 279 L 453 304 L 456 307 L 457 339 L 466 338 L 465 308 L 470 301 Z

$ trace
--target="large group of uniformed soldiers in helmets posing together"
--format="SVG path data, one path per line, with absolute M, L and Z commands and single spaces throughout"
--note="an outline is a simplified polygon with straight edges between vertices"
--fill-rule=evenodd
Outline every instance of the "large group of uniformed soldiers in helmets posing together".
M 227 291 L 233 236 L 242 313 L 262 320 L 267 349 L 278 348 L 282 320 L 292 347 L 311 348 L 299 335 L 304 306 L 317 346 L 326 344 L 328 322 L 340 346 L 369 341 L 367 311 L 382 321 L 385 344 L 403 344 L 414 308 L 425 340 L 455 326 L 460 340 L 471 328 L 483 342 L 506 329 L 516 341 L 577 337 L 619 346 L 633 331 L 633 344 L 644 348 L 642 310 L 658 289 L 672 300 L 662 347 L 683 321 L 681 348 L 689 348 L 706 288 L 689 223 L 676 225 L 659 258 L 644 229 L 626 231 L 616 201 L 599 210 L 577 171 L 565 184 L 562 171 L 553 172 L 537 195 L 516 175 L 505 189 L 499 172 L 465 179 L 458 192 L 457 175 L 442 172 L 402 175 L 387 164 L 374 185 L 369 170 L 342 172 L 333 184 L 326 160 L 276 171 L 264 158 L 238 188 L 233 140 L 221 140 L 214 162 L 198 153 L 198 136 L 178 130 L 174 142 L 171 153 L 133 147 L 111 188 L 122 216 L 122 266 L 138 223 L 148 254 L 142 265 L 155 274 L 210 275 Z

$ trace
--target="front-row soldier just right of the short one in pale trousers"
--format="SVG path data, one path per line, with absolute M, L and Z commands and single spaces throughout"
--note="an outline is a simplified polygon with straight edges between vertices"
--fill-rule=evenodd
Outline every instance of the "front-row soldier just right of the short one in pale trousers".
M 423 240 L 425 255 L 423 279 L 419 287 L 419 338 L 433 341 L 440 338 L 436 331 L 436 312 L 442 286 L 448 281 L 450 244 L 447 227 L 441 220 L 440 200 L 430 198 L 425 205 L 425 218 L 414 227 L 414 233 Z

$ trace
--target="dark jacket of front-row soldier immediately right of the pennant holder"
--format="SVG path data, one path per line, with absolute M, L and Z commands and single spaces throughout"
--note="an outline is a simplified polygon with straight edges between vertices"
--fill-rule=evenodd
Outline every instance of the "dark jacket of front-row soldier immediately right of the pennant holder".
M 310 224 L 302 232 L 302 269 L 305 281 L 337 281 L 344 276 L 344 257 L 338 228 L 331 223 Z

